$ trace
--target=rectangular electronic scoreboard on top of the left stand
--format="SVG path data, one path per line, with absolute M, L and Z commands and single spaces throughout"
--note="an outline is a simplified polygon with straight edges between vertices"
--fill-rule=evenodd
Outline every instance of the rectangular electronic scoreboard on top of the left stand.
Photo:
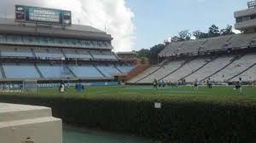
M 30 7 L 25 5 L 15 6 L 15 20 L 62 26 L 72 25 L 71 11 Z

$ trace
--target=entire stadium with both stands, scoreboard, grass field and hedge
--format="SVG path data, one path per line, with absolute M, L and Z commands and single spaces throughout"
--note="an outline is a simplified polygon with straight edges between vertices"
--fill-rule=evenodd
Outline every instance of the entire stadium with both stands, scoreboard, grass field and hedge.
M 114 53 L 110 34 L 73 24 L 71 11 L 16 5 L 15 19 L 0 19 L 0 102 L 49 106 L 63 123 L 157 142 L 253 142 L 255 15 L 252 1 L 234 13 L 240 34 L 166 43 L 150 65 Z

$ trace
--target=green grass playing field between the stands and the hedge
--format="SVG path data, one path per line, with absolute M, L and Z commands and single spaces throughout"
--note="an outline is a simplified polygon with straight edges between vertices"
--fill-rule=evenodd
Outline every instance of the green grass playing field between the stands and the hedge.
M 59 93 L 58 89 L 38 89 L 38 93 L 11 93 L 32 96 L 63 96 L 86 99 L 111 99 L 111 100 L 178 100 L 178 101 L 207 101 L 228 103 L 254 103 L 256 104 L 256 87 L 243 87 L 243 95 L 232 86 L 215 86 L 212 89 L 200 87 L 177 87 L 153 89 L 152 86 L 104 86 L 85 87 L 83 93 L 76 93 L 69 88 L 65 93 Z M 5 93 L 6 94 L 6 93 Z M 10 94 L 10 93 L 9 93 Z

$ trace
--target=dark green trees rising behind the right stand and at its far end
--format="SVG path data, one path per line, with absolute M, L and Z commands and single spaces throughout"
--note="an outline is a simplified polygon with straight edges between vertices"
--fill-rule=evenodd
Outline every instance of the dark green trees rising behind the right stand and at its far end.
M 191 37 L 195 37 L 195 39 L 202 39 L 207 37 L 218 37 L 218 36 L 225 36 L 235 34 L 232 31 L 232 26 L 227 25 L 224 29 L 219 29 L 218 26 L 212 25 L 208 28 L 208 31 L 193 31 L 192 33 L 189 30 L 179 31 L 176 36 L 171 38 L 171 42 L 180 42 L 180 41 L 187 41 L 191 40 Z M 140 49 L 138 51 L 133 51 L 137 53 L 138 58 L 148 58 L 151 64 L 157 64 L 157 56 L 162 49 L 165 48 L 164 43 L 160 43 L 154 45 L 154 47 L 150 49 Z

